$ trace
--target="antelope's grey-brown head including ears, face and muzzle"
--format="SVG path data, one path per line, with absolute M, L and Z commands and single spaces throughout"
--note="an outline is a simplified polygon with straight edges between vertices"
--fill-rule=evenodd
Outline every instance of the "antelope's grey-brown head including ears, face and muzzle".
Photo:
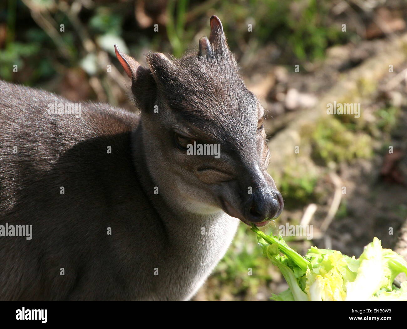
M 174 188 L 191 207 L 221 208 L 247 224 L 278 216 L 283 201 L 266 172 L 263 108 L 239 77 L 219 19 L 211 18 L 210 39 L 200 40 L 198 55 L 170 61 L 148 54 L 143 70 L 125 56 L 118 58 L 128 65 L 142 125 L 156 154 L 171 162 Z M 150 99 L 140 95 L 139 76 L 150 79 Z

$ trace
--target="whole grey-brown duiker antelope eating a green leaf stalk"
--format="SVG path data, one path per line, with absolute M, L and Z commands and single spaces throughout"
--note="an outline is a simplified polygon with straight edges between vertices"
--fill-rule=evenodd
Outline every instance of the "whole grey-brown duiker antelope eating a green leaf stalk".
M 140 115 L 55 114 L 71 102 L 0 82 L 1 300 L 188 300 L 239 219 L 280 214 L 263 108 L 216 16 L 210 27 L 197 54 L 150 53 L 146 67 L 115 46 Z M 188 155 L 194 142 L 220 156 Z M 6 223 L 32 225 L 31 238 Z

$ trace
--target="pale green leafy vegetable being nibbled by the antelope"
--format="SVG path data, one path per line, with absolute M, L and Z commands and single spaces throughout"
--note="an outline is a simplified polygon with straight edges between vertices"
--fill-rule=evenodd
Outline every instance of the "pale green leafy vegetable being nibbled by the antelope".
M 302 257 L 281 236 L 266 235 L 253 225 L 263 253 L 278 267 L 289 289 L 275 301 L 407 301 L 407 282 L 400 288 L 394 278 L 406 273 L 407 262 L 378 238 L 359 259 L 336 250 L 311 247 Z

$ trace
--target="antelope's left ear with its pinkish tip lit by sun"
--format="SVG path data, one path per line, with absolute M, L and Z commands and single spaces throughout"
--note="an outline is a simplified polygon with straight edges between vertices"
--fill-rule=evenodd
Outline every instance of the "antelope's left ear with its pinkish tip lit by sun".
M 131 78 L 131 91 L 137 105 L 141 109 L 149 108 L 154 102 L 156 93 L 156 85 L 150 69 L 140 65 L 133 57 L 120 52 L 117 45 L 114 45 L 114 51 L 127 76 Z

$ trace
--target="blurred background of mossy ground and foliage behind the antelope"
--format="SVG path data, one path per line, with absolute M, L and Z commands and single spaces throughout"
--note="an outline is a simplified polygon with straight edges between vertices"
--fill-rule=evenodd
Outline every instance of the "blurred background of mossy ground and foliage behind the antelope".
M 392 247 L 388 228 L 407 216 L 404 0 L 5 0 L 0 78 L 136 110 L 113 45 L 144 64 L 149 51 L 182 56 L 213 14 L 269 118 L 285 210 L 266 232 L 313 225 L 313 240 L 285 237 L 302 253 L 312 244 L 359 255 L 373 236 Z M 361 118 L 321 115 L 334 100 L 361 103 Z M 267 300 L 285 288 L 241 225 L 195 300 Z

